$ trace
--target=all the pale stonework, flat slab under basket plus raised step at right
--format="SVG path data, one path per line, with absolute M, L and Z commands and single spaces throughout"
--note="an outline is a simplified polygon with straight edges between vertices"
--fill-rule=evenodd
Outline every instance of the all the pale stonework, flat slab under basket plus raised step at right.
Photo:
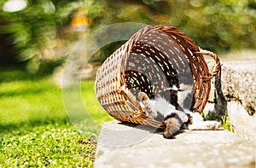
M 185 130 L 167 140 L 152 127 L 111 121 L 102 125 L 95 167 L 256 167 L 256 61 L 223 61 L 212 86 L 206 110 L 228 113 L 235 133 Z

